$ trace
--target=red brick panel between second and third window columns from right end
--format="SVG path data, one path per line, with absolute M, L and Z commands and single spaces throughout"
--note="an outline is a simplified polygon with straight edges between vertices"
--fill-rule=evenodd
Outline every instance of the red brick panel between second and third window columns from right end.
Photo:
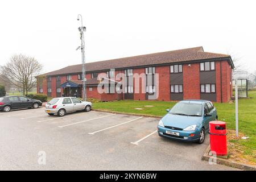
M 170 66 L 156 67 L 159 74 L 159 101 L 170 101 Z

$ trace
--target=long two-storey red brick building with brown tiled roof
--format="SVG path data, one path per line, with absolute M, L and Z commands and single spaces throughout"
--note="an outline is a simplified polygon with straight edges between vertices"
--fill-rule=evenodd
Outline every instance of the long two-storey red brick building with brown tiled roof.
M 86 96 L 102 101 L 148 100 L 158 90 L 155 100 L 160 101 L 204 99 L 228 102 L 232 96 L 233 68 L 229 55 L 204 52 L 203 47 L 86 63 Z M 71 65 L 46 73 L 42 79 L 38 77 L 38 93 L 49 97 L 81 97 L 81 70 L 81 64 Z M 102 81 L 97 78 L 100 73 L 105 73 L 104 78 L 114 82 L 114 86 L 103 86 L 104 93 L 97 90 Z M 115 88 L 122 80 L 114 77 L 118 73 L 124 74 L 123 93 Z M 145 81 L 139 78 L 139 85 L 135 85 L 135 73 L 144 73 Z M 154 81 L 155 75 L 158 75 L 158 84 Z M 134 92 L 136 86 L 138 92 Z

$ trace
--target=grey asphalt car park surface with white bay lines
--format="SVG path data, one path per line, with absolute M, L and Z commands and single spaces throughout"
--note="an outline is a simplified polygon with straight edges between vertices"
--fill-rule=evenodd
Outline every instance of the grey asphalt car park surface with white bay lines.
M 158 122 L 98 111 L 57 117 L 44 107 L 0 112 L 0 170 L 232 169 L 201 160 L 208 135 L 201 145 L 161 138 Z

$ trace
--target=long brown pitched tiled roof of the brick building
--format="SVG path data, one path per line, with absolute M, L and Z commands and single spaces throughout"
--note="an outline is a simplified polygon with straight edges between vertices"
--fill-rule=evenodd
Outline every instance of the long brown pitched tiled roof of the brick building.
M 111 68 L 129 68 L 139 67 L 154 64 L 168 64 L 168 63 L 182 63 L 187 61 L 205 60 L 205 59 L 219 59 L 230 58 L 229 55 L 220 53 L 204 52 L 203 47 L 194 47 L 187 49 L 179 49 L 176 51 L 151 53 L 148 55 L 123 57 L 119 59 L 112 59 L 106 61 L 97 61 L 93 63 L 86 63 L 86 72 L 101 71 Z M 233 63 L 231 60 L 232 67 Z M 44 75 L 65 75 L 68 73 L 80 73 L 81 64 L 71 65 L 53 72 L 48 72 Z

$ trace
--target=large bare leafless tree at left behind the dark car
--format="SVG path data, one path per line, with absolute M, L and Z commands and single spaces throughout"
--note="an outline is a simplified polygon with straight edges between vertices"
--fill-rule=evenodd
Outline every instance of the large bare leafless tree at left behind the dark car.
M 15 85 L 23 90 L 23 95 L 36 85 L 35 76 L 39 75 L 43 65 L 34 57 L 14 55 L 9 63 L 1 67 L 1 78 L 7 84 Z

